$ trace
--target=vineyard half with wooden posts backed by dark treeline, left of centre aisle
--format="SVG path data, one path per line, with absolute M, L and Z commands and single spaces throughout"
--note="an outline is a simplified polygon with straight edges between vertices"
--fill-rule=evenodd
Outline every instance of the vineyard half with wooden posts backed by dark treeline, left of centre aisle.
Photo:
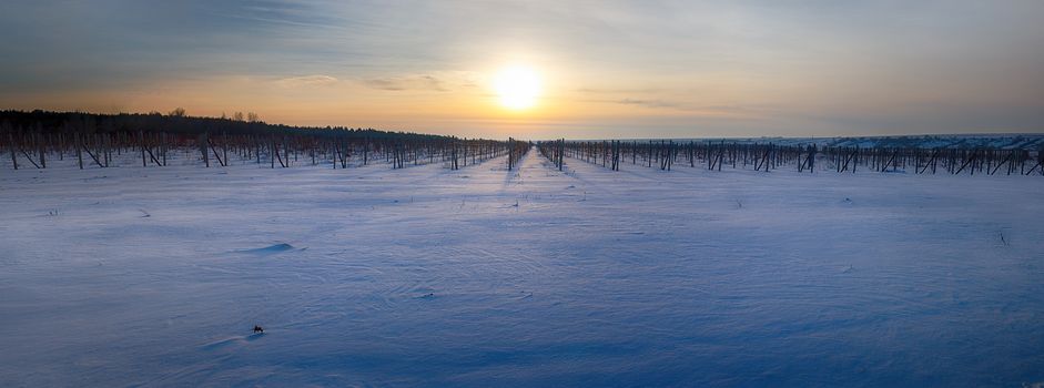
M 13 123 L 13 124 L 12 124 Z M 256 164 L 271 169 L 326 165 L 348 169 L 384 163 L 392 169 L 440 163 L 457 170 L 508 155 L 526 142 L 457 139 L 373 129 L 291 127 L 229 119 L 160 114 L 95 115 L 0 112 L 0 151 L 10 167 L 47 169 L 73 163 L 80 170 L 171 163 L 204 167 Z M 509 167 L 514 165 L 510 164 Z

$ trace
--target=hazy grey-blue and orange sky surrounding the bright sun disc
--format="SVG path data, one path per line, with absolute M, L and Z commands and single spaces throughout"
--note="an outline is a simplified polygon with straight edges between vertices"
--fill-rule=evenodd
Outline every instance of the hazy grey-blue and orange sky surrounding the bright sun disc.
M 1044 1 L 3 0 L 0 109 L 518 139 L 1044 132 Z M 525 69 L 531 106 L 501 103 Z

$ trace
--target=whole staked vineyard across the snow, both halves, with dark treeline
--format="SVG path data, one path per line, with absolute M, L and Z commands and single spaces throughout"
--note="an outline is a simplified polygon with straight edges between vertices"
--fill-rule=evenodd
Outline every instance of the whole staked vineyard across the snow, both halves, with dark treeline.
M 559 170 L 565 157 L 612 171 L 648 167 L 742 169 L 801 173 L 906 172 L 913 174 L 1044 175 L 1044 145 L 860 146 L 737 140 L 541 141 L 540 154 Z M 439 164 L 450 170 L 508 155 L 508 169 L 533 144 L 457 139 L 373 129 L 294 127 L 230 119 L 161 114 L 0 112 L 0 153 L 9 167 L 80 170 L 118 165 L 204 167 L 256 164 L 270 169 L 323 165 L 349 169 L 383 163 L 391 169 Z M 119 159 L 116 159 L 119 156 Z

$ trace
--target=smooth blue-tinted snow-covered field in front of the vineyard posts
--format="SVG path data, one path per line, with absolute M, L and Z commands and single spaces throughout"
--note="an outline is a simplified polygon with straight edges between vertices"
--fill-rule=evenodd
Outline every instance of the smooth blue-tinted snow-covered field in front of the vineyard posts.
M 4 166 L 0 386 L 1044 381 L 1042 177 L 566 163 Z

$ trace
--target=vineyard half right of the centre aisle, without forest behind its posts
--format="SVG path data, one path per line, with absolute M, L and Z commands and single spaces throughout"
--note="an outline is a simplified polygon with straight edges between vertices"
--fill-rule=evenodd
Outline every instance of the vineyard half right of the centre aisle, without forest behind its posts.
M 564 157 L 619 171 L 621 164 L 670 171 L 677 166 L 769 172 L 912 172 L 969 175 L 1044 175 L 1041 149 L 822 146 L 729 141 L 566 141 L 540 142 L 540 154 L 561 169 Z

